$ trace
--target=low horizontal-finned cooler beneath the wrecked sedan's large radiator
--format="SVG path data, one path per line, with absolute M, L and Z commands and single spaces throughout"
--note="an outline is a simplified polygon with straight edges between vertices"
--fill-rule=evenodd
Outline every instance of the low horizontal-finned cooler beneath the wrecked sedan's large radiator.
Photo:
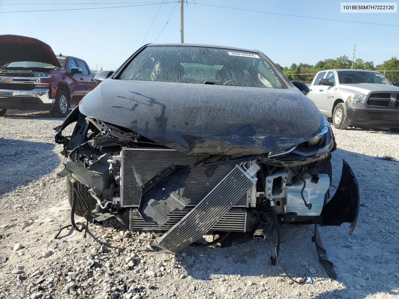
M 191 208 L 184 210 L 174 210 L 168 214 L 170 220 L 162 227 L 158 227 L 154 222 L 145 222 L 141 216 L 130 216 L 130 230 L 169 230 L 186 216 Z M 247 210 L 245 208 L 230 209 L 211 230 L 245 232 L 247 221 Z

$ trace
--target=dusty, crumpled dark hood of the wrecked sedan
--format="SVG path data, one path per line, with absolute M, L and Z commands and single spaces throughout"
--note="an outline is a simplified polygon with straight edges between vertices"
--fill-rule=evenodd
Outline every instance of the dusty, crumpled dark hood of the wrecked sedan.
M 188 154 L 265 153 L 322 130 L 320 111 L 296 88 L 106 79 L 79 111 Z

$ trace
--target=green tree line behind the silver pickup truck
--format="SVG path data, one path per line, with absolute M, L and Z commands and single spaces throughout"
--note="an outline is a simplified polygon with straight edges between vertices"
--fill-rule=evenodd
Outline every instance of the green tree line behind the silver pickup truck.
M 312 82 L 314 74 L 318 71 L 325 69 L 350 69 L 352 68 L 352 60 L 348 56 L 343 55 L 337 59 L 324 59 L 320 60 L 315 65 L 307 63 L 292 63 L 290 67 L 282 67 L 279 63 L 276 63 L 277 67 L 290 79 L 290 81 L 300 81 L 304 83 Z M 384 61 L 380 65 L 374 66 L 373 61 L 363 61 L 361 58 L 356 58 L 353 63 L 353 69 L 365 69 L 371 71 L 379 71 L 384 73 L 385 77 L 391 82 L 399 82 L 399 60 L 396 57 Z M 396 72 L 387 72 L 396 71 Z M 304 75 L 300 75 L 304 74 Z

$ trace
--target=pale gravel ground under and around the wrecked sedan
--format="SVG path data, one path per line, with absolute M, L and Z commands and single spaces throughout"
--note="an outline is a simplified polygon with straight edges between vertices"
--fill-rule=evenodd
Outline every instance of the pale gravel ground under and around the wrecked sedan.
M 398 298 L 399 134 L 388 130 L 334 130 L 333 185 L 342 159 L 358 179 L 358 226 L 320 228 L 338 279 L 329 279 L 311 242 L 313 226 L 282 225 L 280 260 L 296 284 L 270 265 L 272 240 L 242 238 L 232 246 L 188 247 L 159 254 L 156 234 L 89 225 L 89 234 L 54 228 L 70 223 L 65 159 L 53 143 L 61 119 L 9 111 L 0 117 L 0 299 L 3 298 Z M 334 191 L 332 192 L 334 193 Z M 76 221 L 83 218 L 76 217 Z

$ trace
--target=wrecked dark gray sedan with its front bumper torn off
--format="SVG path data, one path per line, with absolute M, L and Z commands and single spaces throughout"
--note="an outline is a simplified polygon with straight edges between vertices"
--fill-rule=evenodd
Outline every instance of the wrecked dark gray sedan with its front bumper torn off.
M 349 222 L 352 234 L 358 183 L 344 161 L 330 199 L 330 125 L 268 57 L 149 44 L 95 79 L 101 84 L 55 128 L 72 213 L 159 230 L 156 245 L 172 253 L 230 232 L 266 238 L 277 229 L 280 239 L 281 222 L 315 224 L 320 261 L 334 276 L 317 224 Z

